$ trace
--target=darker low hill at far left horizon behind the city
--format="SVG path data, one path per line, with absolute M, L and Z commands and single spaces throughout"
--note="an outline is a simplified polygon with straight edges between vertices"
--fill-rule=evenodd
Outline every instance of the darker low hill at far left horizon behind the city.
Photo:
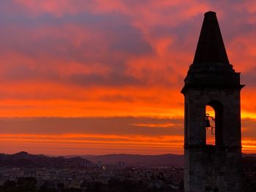
M 83 168 L 94 166 L 84 158 L 72 157 L 48 157 L 46 155 L 32 155 L 26 152 L 11 155 L 0 154 L 0 167 L 23 167 L 23 168 Z

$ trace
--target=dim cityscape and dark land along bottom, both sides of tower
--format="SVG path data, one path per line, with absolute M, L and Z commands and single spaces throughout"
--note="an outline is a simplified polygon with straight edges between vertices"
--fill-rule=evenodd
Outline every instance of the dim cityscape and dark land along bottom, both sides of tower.
M 116 156 L 116 163 L 104 164 L 102 161 L 94 163 L 80 157 L 47 157 L 26 152 L 1 154 L 0 189 L 3 192 L 184 191 L 182 155 L 166 155 L 165 158 L 169 160 L 167 164 L 161 157 L 158 159 L 162 160 L 151 162 L 147 166 L 136 164 L 136 158 L 129 164 L 118 161 L 118 156 L 120 158 L 121 155 Z M 33 164 L 34 158 L 39 159 L 41 163 Z M 177 164 L 175 158 L 181 163 Z M 243 165 L 244 191 L 255 191 L 256 155 L 244 155 Z

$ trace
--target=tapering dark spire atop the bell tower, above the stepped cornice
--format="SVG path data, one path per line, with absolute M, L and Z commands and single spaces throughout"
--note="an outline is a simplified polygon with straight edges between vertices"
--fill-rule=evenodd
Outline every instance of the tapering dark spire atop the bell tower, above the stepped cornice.
M 193 64 L 218 62 L 229 64 L 216 12 L 206 12 Z

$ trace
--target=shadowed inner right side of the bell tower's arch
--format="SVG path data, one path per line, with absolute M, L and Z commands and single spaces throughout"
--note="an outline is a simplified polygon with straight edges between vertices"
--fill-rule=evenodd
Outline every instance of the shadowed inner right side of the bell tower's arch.
M 222 146 L 222 116 L 223 105 L 220 101 L 211 100 L 207 104 L 214 109 L 215 112 L 215 145 Z

